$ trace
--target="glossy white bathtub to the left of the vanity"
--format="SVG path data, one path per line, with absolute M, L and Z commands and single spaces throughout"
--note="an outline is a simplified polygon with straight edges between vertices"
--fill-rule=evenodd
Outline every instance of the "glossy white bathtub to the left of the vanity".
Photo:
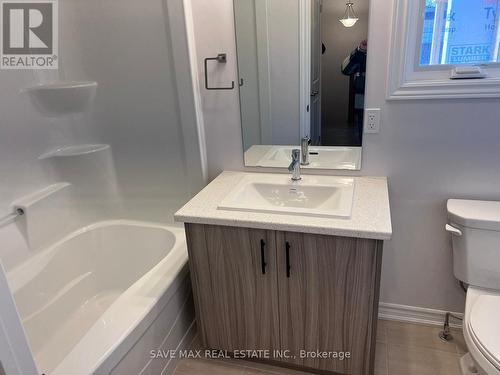
M 167 373 L 168 363 L 147 353 L 175 349 L 193 325 L 179 227 L 98 222 L 40 251 L 8 279 L 41 374 Z

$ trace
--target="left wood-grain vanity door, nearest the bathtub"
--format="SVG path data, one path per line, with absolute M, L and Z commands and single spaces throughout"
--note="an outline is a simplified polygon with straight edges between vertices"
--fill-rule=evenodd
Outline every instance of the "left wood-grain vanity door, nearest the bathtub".
M 186 224 L 197 323 L 206 348 L 279 347 L 276 233 Z

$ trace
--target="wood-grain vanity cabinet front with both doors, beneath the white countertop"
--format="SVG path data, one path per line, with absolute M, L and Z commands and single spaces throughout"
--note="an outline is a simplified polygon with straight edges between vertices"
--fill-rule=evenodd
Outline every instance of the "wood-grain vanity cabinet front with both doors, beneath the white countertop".
M 189 223 L 186 235 L 204 347 L 373 374 L 382 241 Z

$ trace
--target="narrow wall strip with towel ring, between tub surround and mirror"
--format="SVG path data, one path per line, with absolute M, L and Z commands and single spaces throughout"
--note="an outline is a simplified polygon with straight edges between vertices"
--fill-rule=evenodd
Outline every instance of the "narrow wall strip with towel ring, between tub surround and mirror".
M 185 0 L 192 6 L 198 81 L 201 92 L 208 175 L 222 169 L 241 169 L 243 146 L 237 91 L 206 91 L 203 59 L 227 53 L 227 64 L 210 69 L 213 85 L 227 85 L 237 80 L 236 42 L 233 0 Z

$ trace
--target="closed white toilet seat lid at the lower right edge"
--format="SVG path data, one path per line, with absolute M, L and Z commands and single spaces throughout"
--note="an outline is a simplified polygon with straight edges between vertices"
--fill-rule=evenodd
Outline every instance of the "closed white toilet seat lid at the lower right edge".
M 478 297 L 470 315 L 472 339 L 484 356 L 500 370 L 500 296 Z

